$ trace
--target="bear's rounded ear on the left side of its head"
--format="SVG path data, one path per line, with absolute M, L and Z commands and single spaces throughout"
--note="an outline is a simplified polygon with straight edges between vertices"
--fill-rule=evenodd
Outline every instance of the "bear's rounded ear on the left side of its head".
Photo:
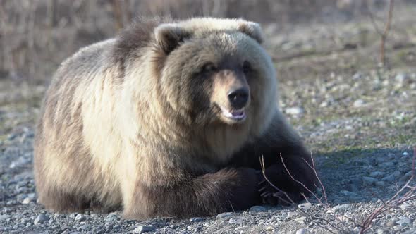
M 157 46 L 166 54 L 178 47 L 187 37 L 190 37 L 190 32 L 174 23 L 164 23 L 154 29 Z

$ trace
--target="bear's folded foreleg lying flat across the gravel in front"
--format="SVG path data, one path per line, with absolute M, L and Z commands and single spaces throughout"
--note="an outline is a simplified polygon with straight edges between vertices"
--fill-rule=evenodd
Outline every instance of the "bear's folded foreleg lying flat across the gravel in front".
M 123 216 L 189 218 L 248 209 L 261 202 L 259 176 L 260 172 L 252 168 L 224 168 L 199 177 L 166 181 L 164 185 L 137 181 L 133 199 L 125 204 Z

